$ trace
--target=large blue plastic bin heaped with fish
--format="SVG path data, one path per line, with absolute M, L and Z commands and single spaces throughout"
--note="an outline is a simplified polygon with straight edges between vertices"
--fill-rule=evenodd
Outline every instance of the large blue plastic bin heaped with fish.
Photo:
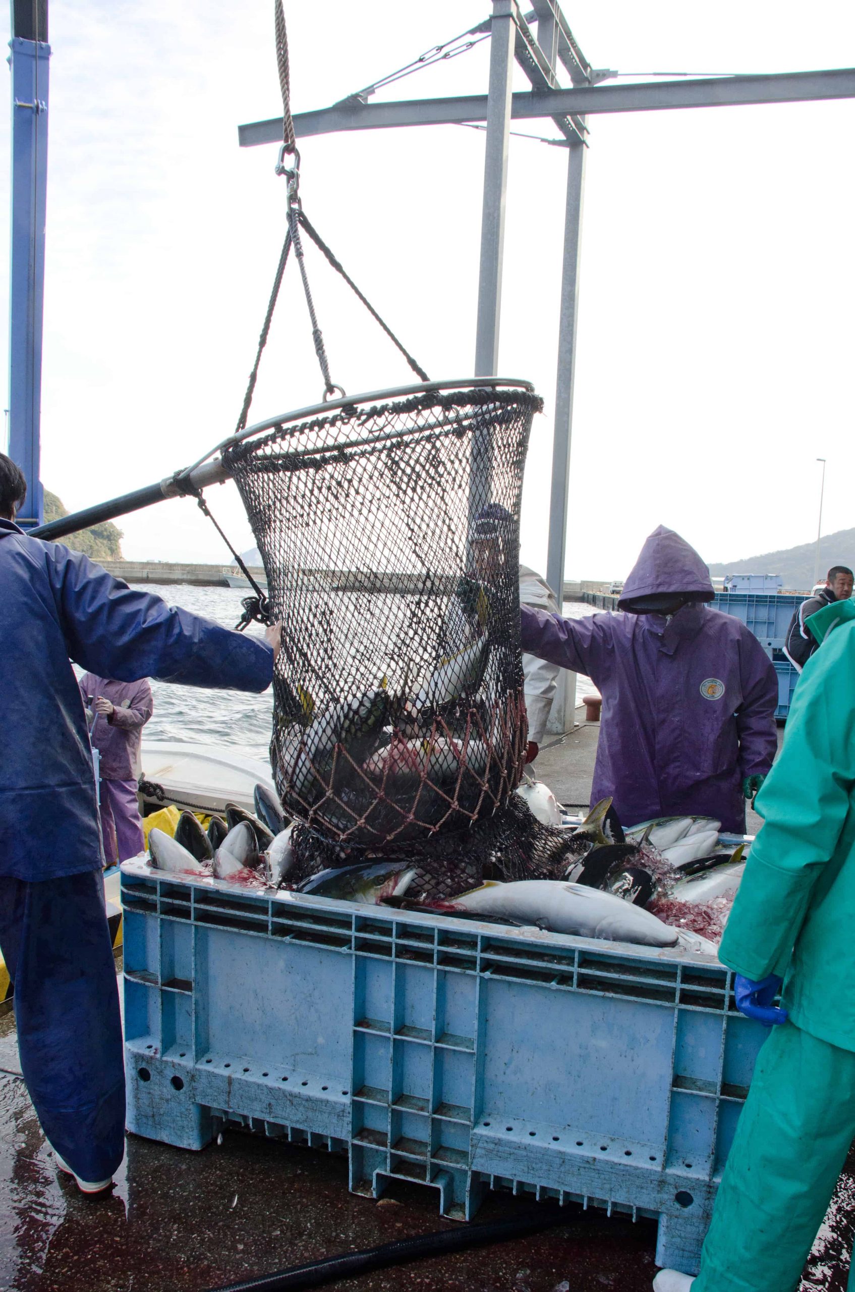
M 121 871 L 132 1132 L 346 1152 L 461 1221 L 488 1189 L 656 1217 L 697 1270 L 766 1035 L 716 959 Z

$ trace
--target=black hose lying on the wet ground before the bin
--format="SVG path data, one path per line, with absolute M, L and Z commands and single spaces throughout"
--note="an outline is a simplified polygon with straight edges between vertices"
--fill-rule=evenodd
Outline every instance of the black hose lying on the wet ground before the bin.
M 212 1288 L 211 1292 L 297 1292 L 300 1288 L 316 1288 L 324 1283 L 337 1283 L 340 1279 L 387 1269 L 390 1265 L 407 1265 L 433 1256 L 447 1256 L 449 1252 L 462 1252 L 468 1247 L 506 1243 L 559 1225 L 588 1224 L 588 1214 L 590 1213 L 584 1212 L 581 1207 L 571 1209 L 570 1205 L 540 1205 L 510 1220 L 495 1220 L 484 1225 L 465 1225 L 460 1229 L 421 1234 L 417 1238 L 403 1238 L 397 1243 L 369 1247 L 364 1252 L 346 1252 L 323 1261 L 311 1261 L 309 1265 L 294 1265 L 278 1274 L 229 1283 L 225 1287 Z M 608 1230 L 610 1234 L 615 1233 L 613 1221 L 608 1224 Z

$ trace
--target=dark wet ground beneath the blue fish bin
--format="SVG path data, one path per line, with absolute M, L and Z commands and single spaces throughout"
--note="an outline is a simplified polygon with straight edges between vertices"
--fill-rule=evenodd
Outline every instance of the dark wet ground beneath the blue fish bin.
M 21 1076 L 14 1019 L 0 1019 L 0 1292 L 203 1292 L 239 1279 L 438 1230 L 433 1190 L 380 1202 L 347 1191 L 345 1158 L 242 1132 L 201 1152 L 134 1136 L 116 1187 L 83 1198 L 57 1176 Z M 845 1292 L 855 1231 L 855 1155 L 801 1292 Z M 532 1203 L 488 1195 L 478 1221 Z M 381 1270 L 340 1292 L 650 1292 L 656 1226 L 597 1218 L 492 1248 Z

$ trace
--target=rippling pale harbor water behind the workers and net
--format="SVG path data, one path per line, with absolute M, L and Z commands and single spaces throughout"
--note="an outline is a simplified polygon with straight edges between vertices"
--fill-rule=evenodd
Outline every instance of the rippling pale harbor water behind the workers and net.
M 156 593 L 172 606 L 204 615 L 226 628 L 234 628 L 238 623 L 243 610 L 242 601 L 248 596 L 240 588 L 195 588 L 187 584 L 146 584 L 146 590 Z M 581 602 L 564 603 L 564 614 L 571 619 L 581 619 L 590 612 L 590 607 Z M 253 637 L 263 636 L 258 624 L 252 624 L 247 632 Z M 579 678 L 579 696 L 585 694 L 582 687 L 586 682 L 588 678 Z M 273 722 L 271 690 L 263 695 L 247 695 L 158 681 L 152 681 L 151 690 L 155 711 L 145 730 L 147 740 L 229 745 L 252 758 L 267 760 Z

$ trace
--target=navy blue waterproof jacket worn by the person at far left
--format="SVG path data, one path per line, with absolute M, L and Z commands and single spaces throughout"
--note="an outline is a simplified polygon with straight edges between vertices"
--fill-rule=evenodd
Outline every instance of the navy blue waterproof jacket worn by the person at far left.
M 70 656 L 99 677 L 263 691 L 273 650 L 132 589 L 0 518 L 0 876 L 98 870 L 87 718 Z

